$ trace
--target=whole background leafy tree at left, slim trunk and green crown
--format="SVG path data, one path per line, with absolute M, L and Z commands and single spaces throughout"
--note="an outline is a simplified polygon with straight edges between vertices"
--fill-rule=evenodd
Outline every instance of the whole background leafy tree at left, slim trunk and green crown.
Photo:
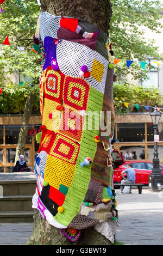
M 9 36 L 9 41 L 11 44 L 11 46 L 2 46 L 3 48 L 1 47 L 0 75 L 4 80 L 4 83 L 4 73 L 7 75 L 12 74 L 15 70 L 19 70 L 23 75 L 31 77 L 32 84 L 39 83 L 39 77 L 41 75 L 40 54 L 36 54 L 30 49 L 24 50 L 26 53 L 23 53 L 16 48 L 16 46 L 33 48 L 33 34 L 35 32 L 38 15 L 39 7 L 36 2 L 19 0 L 7 1 L 5 11 L 0 15 L 0 40 L 3 42 L 6 36 Z M 20 90 L 18 90 L 17 87 L 13 87 L 12 92 L 12 95 L 17 96 L 17 106 L 15 107 L 14 112 L 18 111 L 18 108 L 20 107 L 18 106 L 20 99 L 22 99 L 22 101 L 24 99 L 23 121 L 18 136 L 15 162 L 17 161 L 19 155 L 24 153 L 24 145 L 26 143 L 26 137 L 28 134 L 27 126 L 29 124 L 29 118 L 32 113 L 34 103 L 34 88 L 30 87 L 29 83 L 27 86 L 28 92 L 26 92 L 23 97 L 20 97 L 20 94 L 24 89 L 21 86 Z M 7 88 L 3 88 L 4 93 L 5 89 Z M 11 101 L 8 99 L 5 103 L 10 105 L 10 102 L 13 102 L 13 98 Z

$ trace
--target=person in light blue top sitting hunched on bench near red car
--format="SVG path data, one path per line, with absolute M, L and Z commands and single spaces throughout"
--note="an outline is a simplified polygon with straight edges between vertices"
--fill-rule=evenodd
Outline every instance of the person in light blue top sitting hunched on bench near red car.
M 121 180 L 121 184 L 134 184 L 135 183 L 135 170 L 131 168 L 131 164 L 127 164 L 127 169 L 123 170 L 121 176 L 123 180 Z M 127 179 L 124 177 L 124 173 L 127 174 Z M 121 194 L 123 193 L 123 186 L 121 186 Z M 131 194 L 131 186 L 129 193 Z

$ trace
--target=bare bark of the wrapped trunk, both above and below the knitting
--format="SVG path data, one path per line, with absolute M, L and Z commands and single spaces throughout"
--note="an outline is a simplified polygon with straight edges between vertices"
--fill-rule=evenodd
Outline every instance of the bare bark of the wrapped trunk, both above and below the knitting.
M 78 18 L 108 34 L 112 14 L 109 0 L 41 0 L 40 3 L 42 11 Z M 78 241 L 73 243 L 35 210 L 33 233 L 27 245 L 111 245 L 111 242 L 91 227 L 84 229 Z

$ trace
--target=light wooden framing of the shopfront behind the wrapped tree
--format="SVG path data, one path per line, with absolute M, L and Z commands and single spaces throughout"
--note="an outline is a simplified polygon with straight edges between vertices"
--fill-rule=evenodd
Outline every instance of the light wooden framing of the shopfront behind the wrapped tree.
M 8 152 L 9 150 L 16 150 L 17 144 L 9 144 L 7 143 L 8 135 L 8 127 L 10 127 L 10 130 L 13 127 L 13 132 L 14 133 L 14 127 L 20 127 L 22 123 L 22 115 L 0 115 L 0 169 L 1 172 L 11 172 L 12 167 L 14 166 L 14 162 L 11 160 L 9 161 L 8 157 Z M 134 141 L 134 133 L 132 130 L 131 134 L 133 133 L 133 139 L 132 141 L 121 141 L 121 132 L 126 133 L 126 135 L 129 133 L 129 129 L 125 130 L 125 128 L 121 129 L 121 131 L 118 131 L 118 127 L 121 126 L 121 124 L 130 124 L 133 126 L 137 125 L 137 129 L 139 129 L 139 124 L 143 124 L 144 126 L 144 139 L 140 139 L 140 141 Z M 114 137 L 118 139 L 118 142 L 114 143 L 114 148 L 117 149 L 118 151 L 123 151 L 125 153 L 126 149 L 132 149 L 133 147 L 137 147 L 140 149 L 145 149 L 145 160 L 146 161 L 152 161 L 152 151 L 153 151 L 153 136 L 151 136 L 151 141 L 148 139 L 148 126 L 151 124 L 151 117 L 149 113 L 127 113 L 124 115 L 116 115 L 115 118 L 115 133 Z M 160 125 L 162 124 L 162 129 L 160 134 L 160 138 L 163 138 L 163 115 L 161 116 L 160 119 Z M 40 115 L 32 115 L 30 117 L 29 121 L 29 130 L 34 129 L 37 126 L 37 130 L 39 129 L 39 126 L 41 126 L 41 116 Z M 151 131 L 152 131 L 152 124 L 151 124 Z M 152 134 L 151 134 L 152 135 Z M 14 134 L 12 135 L 14 136 Z M 136 137 L 135 137 L 136 138 Z M 28 162 L 27 166 L 29 166 L 32 170 L 34 170 L 34 160 L 35 160 L 35 155 L 37 153 L 37 149 L 39 147 L 39 144 L 36 144 L 35 141 L 35 136 L 30 136 L 29 138 L 30 143 L 27 143 L 25 145 L 25 148 L 28 149 L 29 152 L 29 157 L 28 157 Z M 159 154 L 159 159 L 160 163 L 163 163 L 163 139 L 158 143 L 159 147 L 161 147 L 162 154 Z M 37 146 L 37 147 L 36 147 Z M 151 154 L 148 154 L 149 152 L 149 147 L 151 147 Z M 123 150 L 122 150 L 123 149 Z M 139 160 L 139 155 L 138 159 Z M 10 167 L 10 168 L 9 168 Z M 10 169 L 10 170 L 9 170 Z

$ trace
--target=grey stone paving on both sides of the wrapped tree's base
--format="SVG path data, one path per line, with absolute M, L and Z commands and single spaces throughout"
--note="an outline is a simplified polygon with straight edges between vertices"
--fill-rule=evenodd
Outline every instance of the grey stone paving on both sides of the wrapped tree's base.
M 163 193 L 153 193 L 145 187 L 132 194 L 116 190 L 120 228 L 116 239 L 124 245 L 163 245 Z M 0 245 L 25 245 L 33 223 L 0 224 Z

